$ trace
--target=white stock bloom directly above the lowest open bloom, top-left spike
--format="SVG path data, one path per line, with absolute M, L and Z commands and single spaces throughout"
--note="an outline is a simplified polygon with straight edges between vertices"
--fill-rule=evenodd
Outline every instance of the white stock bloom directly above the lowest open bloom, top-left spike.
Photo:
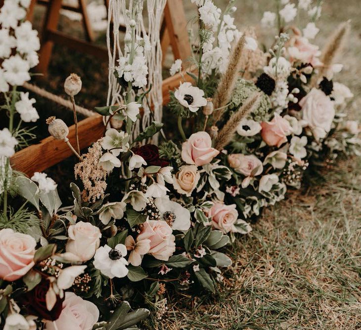
M 29 21 L 21 23 L 15 29 L 16 50 L 20 54 L 27 54 L 40 49 L 38 31 L 33 30 Z

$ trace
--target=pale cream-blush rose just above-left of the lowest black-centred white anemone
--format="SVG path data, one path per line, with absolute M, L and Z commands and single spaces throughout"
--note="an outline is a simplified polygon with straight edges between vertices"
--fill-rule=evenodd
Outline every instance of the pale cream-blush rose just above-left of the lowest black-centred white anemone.
M 68 228 L 69 240 L 66 251 L 75 254 L 79 261 L 90 260 L 99 248 L 101 233 L 98 227 L 89 222 L 80 221 Z

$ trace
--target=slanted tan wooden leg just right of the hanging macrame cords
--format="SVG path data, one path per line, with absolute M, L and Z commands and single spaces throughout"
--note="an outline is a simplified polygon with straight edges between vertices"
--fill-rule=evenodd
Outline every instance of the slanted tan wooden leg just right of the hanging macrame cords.
M 185 61 L 192 55 L 187 31 L 183 1 L 168 0 L 164 9 L 164 18 L 169 33 L 175 59 Z

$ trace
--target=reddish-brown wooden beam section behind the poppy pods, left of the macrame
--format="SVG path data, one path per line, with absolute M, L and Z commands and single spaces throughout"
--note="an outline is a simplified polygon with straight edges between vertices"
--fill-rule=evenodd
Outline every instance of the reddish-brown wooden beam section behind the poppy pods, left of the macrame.
M 80 148 L 87 148 L 103 136 L 103 117 L 100 115 L 89 117 L 82 120 L 78 127 Z M 75 125 L 69 127 L 68 138 L 75 147 Z M 39 144 L 33 144 L 17 152 L 10 158 L 10 164 L 13 169 L 32 176 L 34 172 L 44 171 L 72 155 L 73 153 L 64 141 L 55 140 L 49 136 Z

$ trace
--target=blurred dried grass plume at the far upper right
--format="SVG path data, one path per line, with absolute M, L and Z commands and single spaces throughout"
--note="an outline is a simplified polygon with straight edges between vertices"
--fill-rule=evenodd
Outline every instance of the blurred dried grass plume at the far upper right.
M 351 20 L 341 23 L 336 31 L 328 38 L 326 45 L 323 47 L 320 61 L 323 66 L 319 69 L 317 76 L 314 78 L 312 85 L 315 86 L 319 79 L 326 77 L 335 58 L 340 54 L 345 45 L 346 39 L 351 30 Z

